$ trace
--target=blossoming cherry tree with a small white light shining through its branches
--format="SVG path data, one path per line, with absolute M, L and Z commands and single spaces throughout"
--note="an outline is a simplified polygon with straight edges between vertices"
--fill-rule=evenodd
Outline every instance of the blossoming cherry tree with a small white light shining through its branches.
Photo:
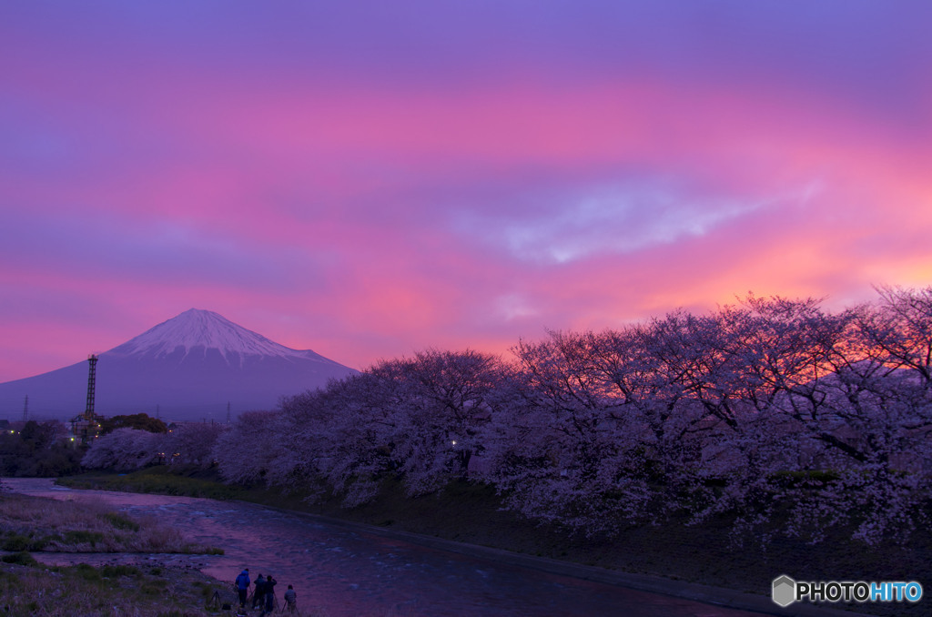
M 311 440 L 320 472 L 348 505 L 371 499 L 390 473 L 410 495 L 464 476 L 499 373 L 487 354 L 428 350 L 331 384 L 322 396 L 333 413 Z

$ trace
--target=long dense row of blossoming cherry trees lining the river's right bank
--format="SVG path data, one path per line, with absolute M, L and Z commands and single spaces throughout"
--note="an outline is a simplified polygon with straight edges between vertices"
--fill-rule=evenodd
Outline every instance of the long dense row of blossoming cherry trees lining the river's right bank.
M 878 292 L 839 313 L 749 296 L 551 332 L 508 360 L 382 361 L 240 416 L 212 460 L 228 482 L 347 507 L 389 476 L 411 496 L 470 478 L 529 518 L 585 532 L 685 512 L 728 516 L 736 538 L 846 528 L 902 540 L 927 523 L 930 499 L 932 287 Z

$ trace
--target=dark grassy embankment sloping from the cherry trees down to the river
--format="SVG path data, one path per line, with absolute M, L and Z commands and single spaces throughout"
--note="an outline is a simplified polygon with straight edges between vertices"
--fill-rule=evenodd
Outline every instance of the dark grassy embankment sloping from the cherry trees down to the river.
M 455 483 L 441 493 L 418 499 L 405 498 L 400 487 L 387 483 L 373 502 L 345 510 L 339 507 L 338 500 L 308 504 L 300 494 L 281 495 L 263 487 L 228 487 L 215 482 L 210 474 L 178 476 L 167 468 L 122 476 L 93 473 L 65 482 L 70 486 L 248 500 L 421 537 L 764 597 L 780 574 L 808 581 L 915 580 L 926 588 L 932 580 L 927 531 L 917 534 L 908 546 L 867 547 L 845 541 L 842 529 L 817 546 L 781 540 L 766 546 L 746 543 L 738 547 L 730 543 L 727 519 L 702 527 L 690 527 L 674 519 L 662 526 L 629 528 L 615 538 L 572 536 L 562 529 L 536 526 L 502 511 L 494 492 L 468 483 Z M 909 615 L 921 607 L 876 604 L 855 608 L 878 615 Z

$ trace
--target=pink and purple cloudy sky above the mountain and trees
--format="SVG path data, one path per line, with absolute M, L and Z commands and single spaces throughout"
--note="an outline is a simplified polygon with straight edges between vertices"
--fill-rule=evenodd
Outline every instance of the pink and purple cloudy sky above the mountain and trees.
M 925 0 L 0 0 L 0 381 L 932 284 Z

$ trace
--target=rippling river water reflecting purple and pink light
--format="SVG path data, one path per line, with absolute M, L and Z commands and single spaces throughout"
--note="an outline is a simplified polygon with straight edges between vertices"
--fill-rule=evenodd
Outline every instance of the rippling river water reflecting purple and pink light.
M 331 527 L 297 514 L 229 501 L 56 487 L 4 478 L 16 492 L 57 500 L 103 500 L 135 516 L 157 516 L 192 542 L 225 555 L 43 555 L 46 563 L 169 563 L 232 582 L 243 568 L 271 573 L 276 596 L 294 585 L 305 617 L 750 617 L 610 584 L 435 550 Z

